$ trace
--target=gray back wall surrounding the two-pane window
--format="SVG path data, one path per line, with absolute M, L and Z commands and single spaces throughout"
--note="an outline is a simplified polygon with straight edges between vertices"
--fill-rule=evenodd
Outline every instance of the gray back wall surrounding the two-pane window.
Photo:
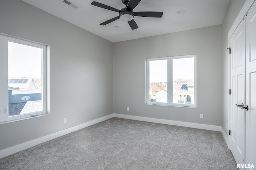
M 221 31 L 216 25 L 114 43 L 114 113 L 220 126 Z M 146 105 L 146 58 L 190 54 L 197 55 L 197 108 Z

